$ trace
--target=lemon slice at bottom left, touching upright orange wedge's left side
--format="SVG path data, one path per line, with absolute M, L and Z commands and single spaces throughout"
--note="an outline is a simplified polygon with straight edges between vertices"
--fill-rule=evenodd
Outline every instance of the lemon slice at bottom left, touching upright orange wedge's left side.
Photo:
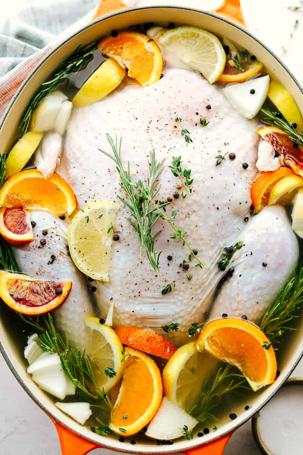
M 122 378 L 124 349 L 114 330 L 100 324 L 98 318 L 84 318 L 87 327 L 88 349 L 94 377 L 100 390 L 107 392 Z

